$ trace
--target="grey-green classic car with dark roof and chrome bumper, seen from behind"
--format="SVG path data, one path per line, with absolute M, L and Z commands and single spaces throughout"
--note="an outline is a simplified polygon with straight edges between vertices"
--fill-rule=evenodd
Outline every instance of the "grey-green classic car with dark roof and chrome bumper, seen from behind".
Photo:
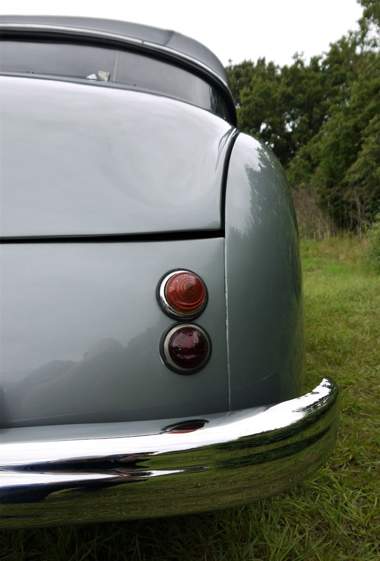
M 304 393 L 292 197 L 222 63 L 121 21 L 0 29 L 1 527 L 231 507 L 311 475 L 339 390 Z

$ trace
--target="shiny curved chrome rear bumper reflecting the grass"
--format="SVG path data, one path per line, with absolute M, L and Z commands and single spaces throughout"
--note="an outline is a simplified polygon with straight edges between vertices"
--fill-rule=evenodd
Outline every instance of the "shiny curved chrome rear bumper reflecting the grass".
M 338 403 L 324 378 L 297 399 L 201 420 L 4 429 L 0 527 L 194 513 L 279 493 L 330 456 Z

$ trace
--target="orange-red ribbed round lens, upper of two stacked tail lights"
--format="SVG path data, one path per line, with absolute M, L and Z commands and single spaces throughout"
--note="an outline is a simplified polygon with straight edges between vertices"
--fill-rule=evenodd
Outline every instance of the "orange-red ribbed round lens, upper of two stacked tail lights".
M 192 314 L 203 305 L 206 287 L 198 275 L 181 272 L 167 281 L 165 296 L 168 305 L 178 314 Z

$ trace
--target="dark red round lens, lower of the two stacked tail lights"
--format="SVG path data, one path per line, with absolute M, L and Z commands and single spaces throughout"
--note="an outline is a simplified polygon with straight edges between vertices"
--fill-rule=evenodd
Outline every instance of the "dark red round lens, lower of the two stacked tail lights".
M 184 369 L 198 369 L 209 356 L 209 342 L 195 327 L 179 329 L 169 341 L 172 361 Z

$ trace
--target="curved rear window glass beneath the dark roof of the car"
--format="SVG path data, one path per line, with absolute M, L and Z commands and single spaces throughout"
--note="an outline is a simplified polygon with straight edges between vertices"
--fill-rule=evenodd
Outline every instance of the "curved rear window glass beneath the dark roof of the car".
M 148 90 L 212 111 L 231 122 L 222 95 L 207 81 L 140 53 L 68 43 L 3 40 L 0 70 L 86 80 L 109 73 L 109 86 Z

